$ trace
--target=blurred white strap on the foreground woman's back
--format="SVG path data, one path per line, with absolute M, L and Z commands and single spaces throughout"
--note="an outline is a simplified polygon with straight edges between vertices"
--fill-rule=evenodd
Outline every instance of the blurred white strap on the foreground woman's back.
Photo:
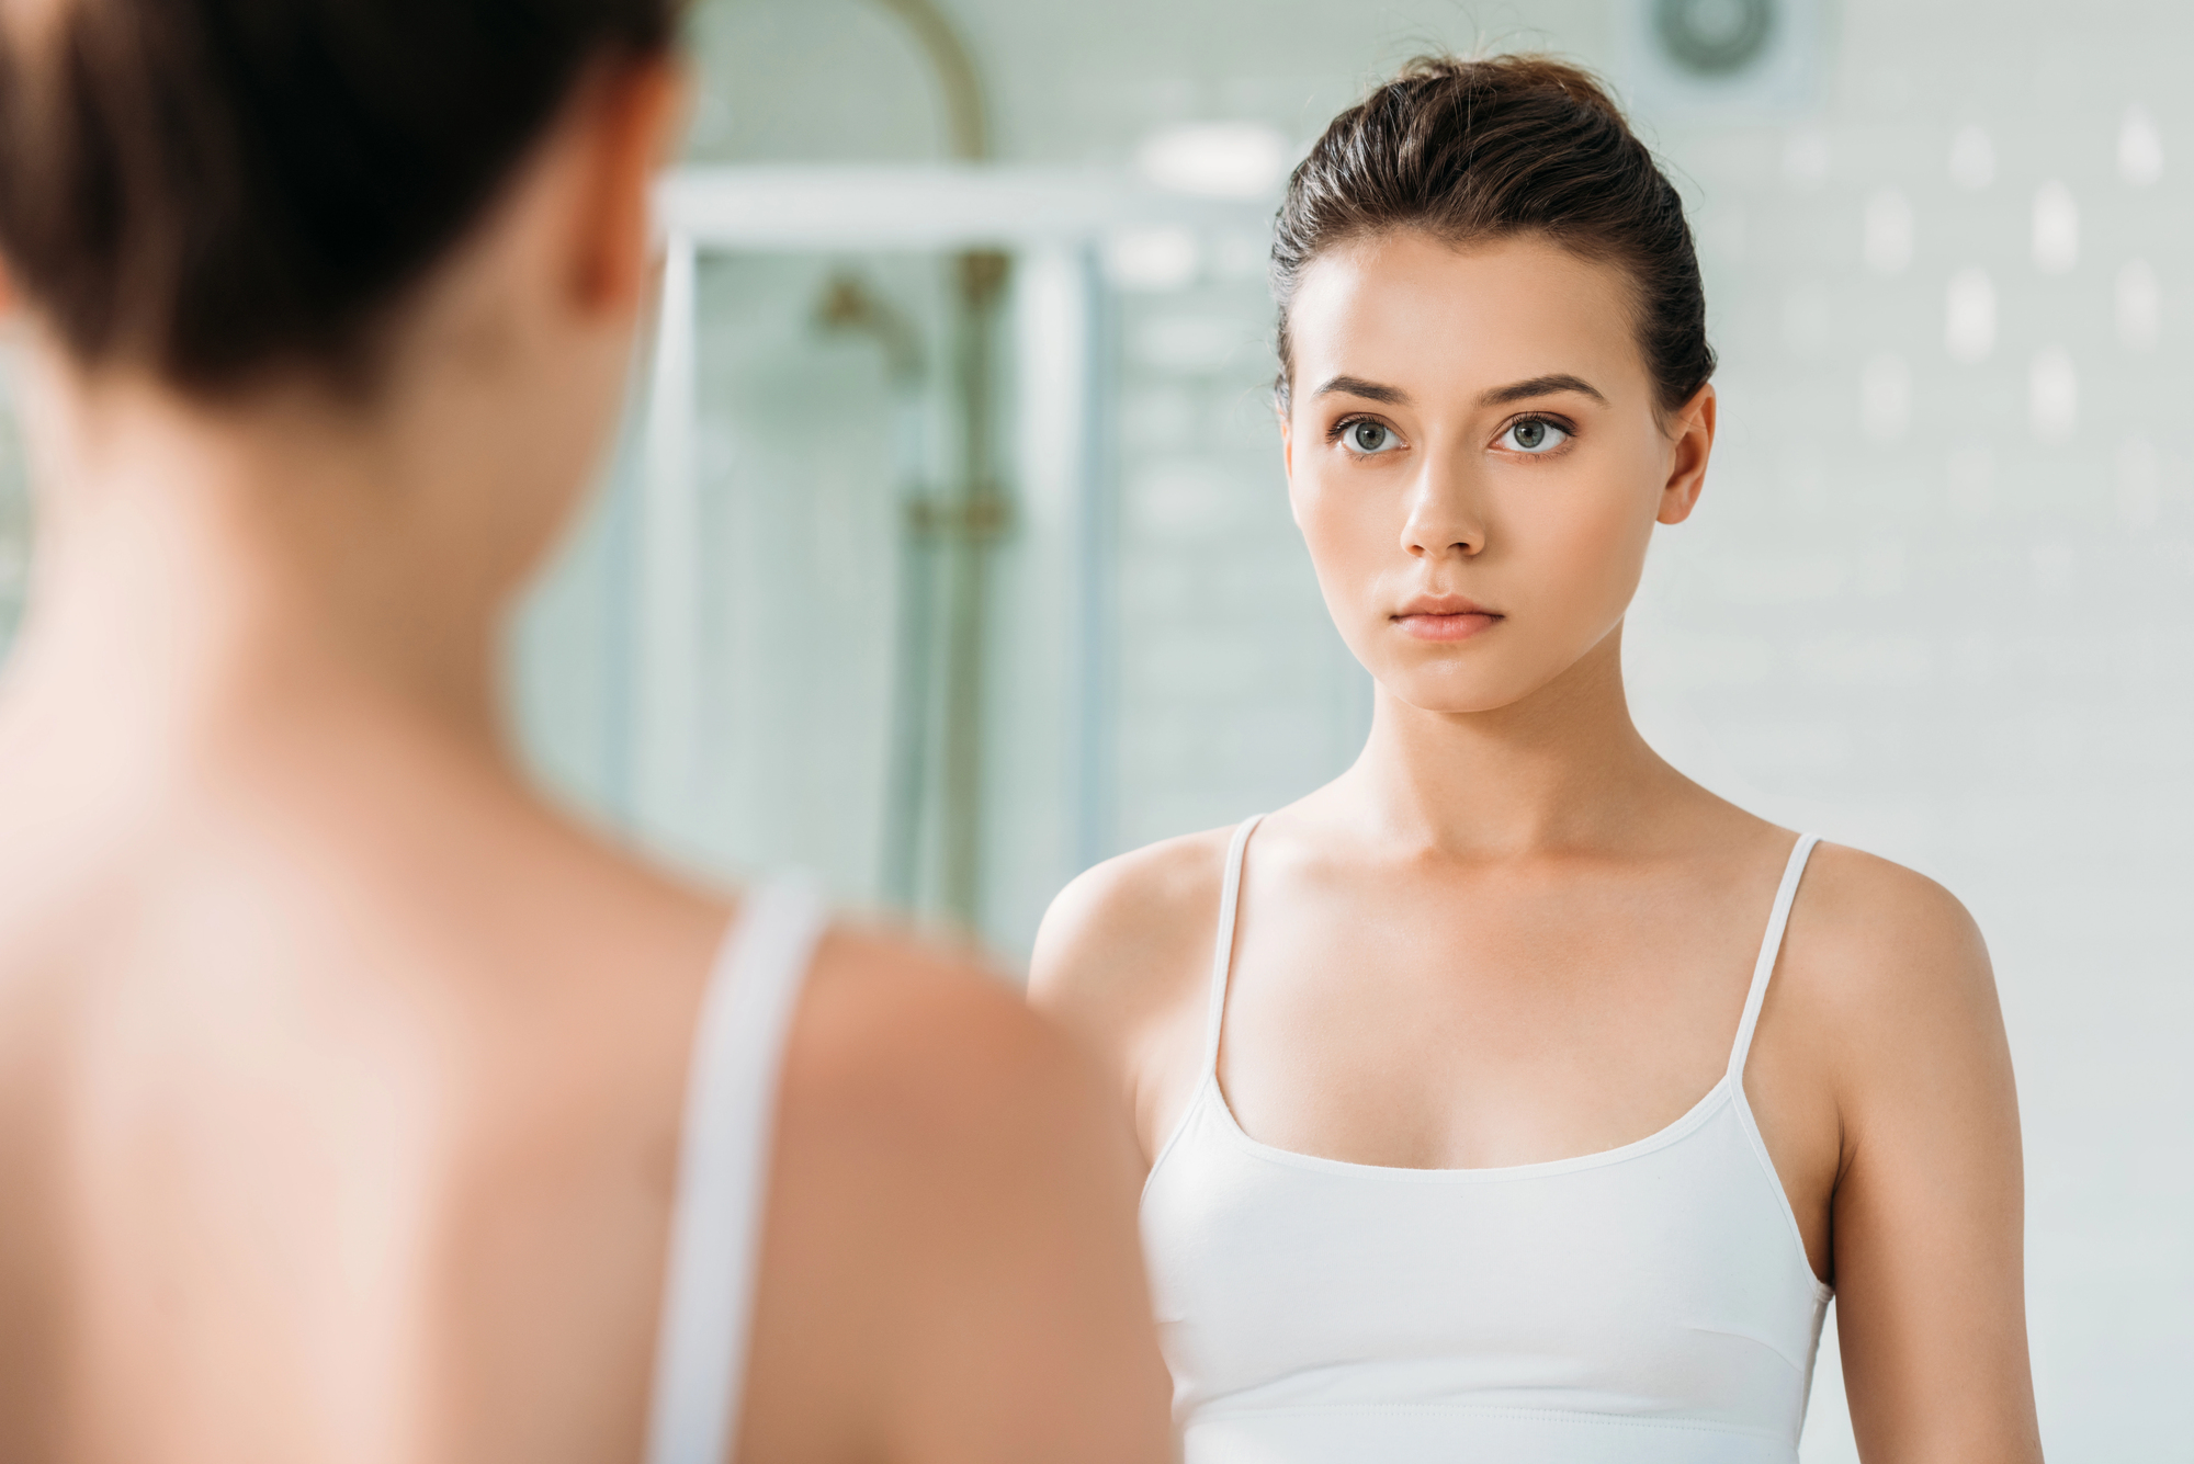
M 810 879 L 748 892 L 702 995 L 656 1337 L 647 1464 L 724 1464 L 739 1427 L 785 1032 L 825 927 Z

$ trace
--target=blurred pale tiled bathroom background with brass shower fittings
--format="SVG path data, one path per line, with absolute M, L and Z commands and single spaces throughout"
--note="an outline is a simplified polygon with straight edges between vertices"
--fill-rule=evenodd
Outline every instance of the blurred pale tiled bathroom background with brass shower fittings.
M 1266 224 L 1417 50 L 1604 70 L 1722 351 L 1648 736 L 1988 931 L 2058 1460 L 2194 1460 L 2194 11 L 2165 0 L 700 0 L 663 320 L 513 697 L 575 807 L 1025 958 L 1336 774 Z M 29 513 L 0 427 L 0 633 Z M 1856 1457 L 1834 1341 L 1806 1460 Z

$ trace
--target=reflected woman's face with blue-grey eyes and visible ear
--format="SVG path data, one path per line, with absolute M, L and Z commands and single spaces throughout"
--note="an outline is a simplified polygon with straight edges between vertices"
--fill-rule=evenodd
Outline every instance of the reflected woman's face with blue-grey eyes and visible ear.
M 1714 388 L 1654 410 L 1617 265 L 1391 232 L 1303 272 L 1290 335 L 1288 497 L 1387 693 L 1485 712 L 1608 642 L 1714 443 Z

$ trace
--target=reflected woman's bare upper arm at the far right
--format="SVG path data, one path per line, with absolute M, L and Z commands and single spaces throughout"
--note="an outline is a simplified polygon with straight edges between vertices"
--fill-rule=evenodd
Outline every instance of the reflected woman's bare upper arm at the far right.
M 2040 1460 L 2018 1096 L 1988 949 L 1939 885 L 1867 863 L 1834 962 L 1852 1429 L 1867 1464 Z

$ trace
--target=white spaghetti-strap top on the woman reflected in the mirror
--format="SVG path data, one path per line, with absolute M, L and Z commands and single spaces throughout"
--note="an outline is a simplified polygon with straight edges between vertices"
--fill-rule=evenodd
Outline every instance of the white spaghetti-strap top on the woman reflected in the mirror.
M 1792 1464 L 1830 1291 L 1744 1102 L 1744 1054 L 1814 839 L 1790 850 L 1722 1080 L 1575 1159 L 1384 1168 L 1248 1137 L 1205 1078 L 1143 1188 L 1187 1464 Z

